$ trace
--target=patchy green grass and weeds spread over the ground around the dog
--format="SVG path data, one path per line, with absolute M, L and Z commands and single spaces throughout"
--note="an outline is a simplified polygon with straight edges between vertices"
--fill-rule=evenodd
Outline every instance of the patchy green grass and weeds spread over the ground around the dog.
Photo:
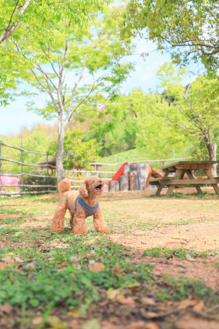
M 123 207 L 127 204 L 127 200 L 121 202 Z M 103 291 L 106 296 L 112 289 L 117 289 L 127 296 L 139 294 L 140 299 L 141 296 L 153 296 L 158 304 L 159 301 L 177 301 L 188 296 L 203 299 L 209 304 L 219 303 L 218 295 L 206 288 L 204 282 L 187 278 L 175 280 L 165 275 L 156 276 L 152 273 L 153 266 L 147 264 L 146 258 L 143 259 L 146 261 L 140 264 L 135 259 L 130 261 L 127 249 L 94 231 L 91 217 L 86 219 L 89 233 L 85 236 L 70 234 L 70 227 L 65 227 L 63 232 L 52 233 L 49 219 L 44 217 L 42 220 L 45 221 L 45 227 L 19 226 L 26 218 L 35 220 L 34 215 L 30 219 L 30 214 L 52 213 L 56 204 L 56 199 L 42 199 L 39 196 L 7 200 L 2 203 L 4 207 L 1 209 L 8 214 L 8 218 L 4 222 L 7 226 L 0 226 L 0 265 L 4 264 L 4 261 L 1 261 L 4 257 L 9 257 L 12 262 L 0 270 L 0 304 L 7 303 L 15 308 L 19 307 L 23 314 L 23 328 L 28 328 L 28 325 L 24 324 L 27 323 L 27 320 L 24 321 L 25 310 L 31 311 L 33 316 L 38 312 L 45 321 L 55 307 L 59 314 L 77 310 L 81 316 L 85 316 L 91 305 L 103 301 L 104 298 L 104 302 L 110 305 L 112 301 L 103 297 Z M 10 218 L 10 214 L 14 213 L 7 211 L 6 206 L 13 208 L 14 210 L 10 210 L 12 212 L 17 211 L 15 214 L 22 212 L 22 216 Z M 203 221 L 189 219 L 164 223 L 152 220 L 148 223 L 137 222 L 133 226 L 126 220 L 132 219 L 128 211 L 117 209 L 119 211 L 113 211 L 111 207 L 108 211 L 105 208 L 104 213 L 107 225 L 114 233 Z M 197 252 L 183 247 L 158 247 L 145 250 L 144 256 L 176 256 L 184 259 L 186 253 L 191 257 L 202 257 L 206 260 L 209 255 L 219 255 L 218 251 Z M 92 262 L 104 264 L 105 270 L 97 273 L 90 271 L 89 265 Z M 218 263 L 214 266 L 218 267 Z M 31 322 L 33 316 L 30 315 L 28 321 Z M 49 328 L 49 325 L 47 327 Z M 41 328 L 44 328 L 43 325 Z

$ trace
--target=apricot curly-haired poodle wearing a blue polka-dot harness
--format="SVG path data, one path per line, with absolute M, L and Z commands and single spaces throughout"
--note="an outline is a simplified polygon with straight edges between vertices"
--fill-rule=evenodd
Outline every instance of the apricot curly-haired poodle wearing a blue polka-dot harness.
M 74 234 L 87 233 L 85 218 L 93 215 L 94 227 L 97 232 L 108 233 L 108 227 L 99 208 L 98 196 L 103 192 L 104 182 L 97 176 L 87 177 L 79 187 L 79 195 L 71 191 L 71 183 L 63 180 L 58 184 L 58 190 L 63 193 L 53 216 L 52 230 L 62 231 L 65 213 L 70 211 L 70 226 Z

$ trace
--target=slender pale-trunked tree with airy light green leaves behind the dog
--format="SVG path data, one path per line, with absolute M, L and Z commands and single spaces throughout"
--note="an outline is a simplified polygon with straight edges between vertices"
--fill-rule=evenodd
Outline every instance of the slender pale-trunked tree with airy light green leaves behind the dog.
M 45 31 L 45 36 L 28 30 L 25 38 L 11 37 L 18 62 L 25 68 L 21 78 L 34 87 L 36 95 L 48 96 L 44 108 L 31 102 L 29 109 L 58 121 L 58 180 L 63 178 L 63 142 L 69 122 L 82 120 L 88 113 L 97 115 L 133 68 L 122 61 L 130 47 L 120 44 L 119 17 L 120 8 L 91 13 L 83 24 L 61 15 L 55 29 Z

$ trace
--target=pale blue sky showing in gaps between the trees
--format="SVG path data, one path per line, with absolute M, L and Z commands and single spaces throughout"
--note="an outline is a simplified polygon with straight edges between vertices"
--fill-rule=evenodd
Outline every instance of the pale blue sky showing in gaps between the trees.
M 145 40 L 137 40 L 137 47 L 135 54 L 129 56 L 128 60 L 136 62 L 135 71 L 131 72 L 130 77 L 127 78 L 121 85 L 122 93 L 129 93 L 132 89 L 142 88 L 144 91 L 156 90 L 159 84 L 156 72 L 159 67 L 165 62 L 170 62 L 169 54 L 161 54 L 161 52 L 152 52 L 148 57 L 144 59 L 140 54 L 144 52 L 151 52 L 156 49 L 156 45 L 152 42 L 146 42 Z M 188 67 L 188 73 L 183 77 L 182 83 L 186 85 L 188 82 L 192 82 L 197 75 L 189 73 L 191 70 L 197 70 L 199 67 L 197 64 L 191 63 Z M 23 84 L 19 89 L 28 89 L 28 84 Z M 11 133 L 17 134 L 23 126 L 31 128 L 34 123 L 46 121 L 42 116 L 35 114 L 32 111 L 27 111 L 26 102 L 30 101 L 30 98 L 19 96 L 15 101 L 11 102 L 7 107 L 1 107 L 1 120 L 0 120 L 0 135 L 10 135 Z M 37 105 L 43 107 L 45 103 L 45 96 L 38 96 Z

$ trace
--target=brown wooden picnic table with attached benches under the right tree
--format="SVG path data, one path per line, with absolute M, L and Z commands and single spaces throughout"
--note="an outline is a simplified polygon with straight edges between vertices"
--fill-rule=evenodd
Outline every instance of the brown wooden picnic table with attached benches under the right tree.
M 177 186 L 194 185 L 199 194 L 202 194 L 200 185 L 210 184 L 216 193 L 219 193 L 219 177 L 213 177 L 212 167 L 216 161 L 179 161 L 169 164 L 162 168 L 164 176 L 149 180 L 150 185 L 159 185 L 156 195 L 160 195 L 164 186 L 168 186 L 166 195 L 172 193 Z M 204 170 L 208 178 L 196 178 L 193 170 Z M 170 173 L 175 173 L 174 177 L 168 176 Z M 187 174 L 188 179 L 183 179 Z

